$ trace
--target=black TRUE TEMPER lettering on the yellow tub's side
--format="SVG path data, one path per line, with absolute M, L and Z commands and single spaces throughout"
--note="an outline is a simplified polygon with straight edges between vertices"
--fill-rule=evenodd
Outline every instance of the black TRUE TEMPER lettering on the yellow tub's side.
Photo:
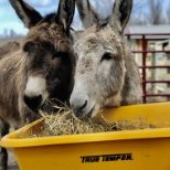
M 84 156 L 81 157 L 82 163 L 99 162 L 99 161 L 118 161 L 132 160 L 132 153 L 117 153 L 117 155 L 100 155 L 100 156 Z

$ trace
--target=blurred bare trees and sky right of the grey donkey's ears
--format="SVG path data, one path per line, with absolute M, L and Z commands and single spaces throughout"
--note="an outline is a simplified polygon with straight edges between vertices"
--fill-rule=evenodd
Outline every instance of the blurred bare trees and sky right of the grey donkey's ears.
M 164 24 L 170 23 L 170 2 L 167 11 L 163 4 L 168 7 L 169 0 L 134 0 L 131 14 L 131 24 Z M 166 21 L 167 15 L 167 21 Z

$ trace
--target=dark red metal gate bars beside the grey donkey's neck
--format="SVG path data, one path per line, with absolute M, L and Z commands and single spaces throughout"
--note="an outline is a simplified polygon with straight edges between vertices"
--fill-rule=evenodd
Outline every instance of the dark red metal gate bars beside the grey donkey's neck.
M 152 50 L 148 50 L 148 41 L 152 40 L 152 38 L 148 38 L 148 36 L 157 36 L 157 41 L 158 40 L 164 40 L 164 38 L 162 39 L 161 36 L 167 36 L 167 40 L 170 40 L 170 33 L 168 34 L 160 34 L 160 33 L 153 33 L 153 34 L 126 34 L 128 41 L 135 40 L 135 38 L 132 36 L 138 36 L 138 39 L 141 41 L 141 50 L 131 50 L 131 52 L 134 54 L 140 53 L 142 55 L 142 65 L 139 66 L 139 68 L 142 72 L 142 91 L 144 91 L 144 96 L 142 96 L 142 100 L 144 103 L 147 103 L 147 97 L 170 97 L 170 94 L 163 93 L 163 94 L 148 94 L 147 93 L 147 84 L 156 84 L 156 83 L 170 83 L 170 77 L 168 81 L 156 81 L 156 79 L 147 79 L 147 68 L 151 68 L 151 70 L 157 70 L 157 68 L 170 68 L 170 65 L 147 65 L 147 54 L 148 53 L 170 53 L 170 51 L 152 51 Z

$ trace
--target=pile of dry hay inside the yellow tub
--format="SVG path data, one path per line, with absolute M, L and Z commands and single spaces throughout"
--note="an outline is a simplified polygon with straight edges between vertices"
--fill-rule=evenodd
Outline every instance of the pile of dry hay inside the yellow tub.
M 38 135 L 32 134 L 31 137 L 155 128 L 153 125 L 147 125 L 145 120 L 138 120 L 137 123 L 121 120 L 109 124 L 107 121 L 104 121 L 104 119 L 102 118 L 78 119 L 74 116 L 68 107 L 55 107 L 59 109 L 56 114 L 47 115 L 43 111 L 40 111 L 42 117 L 44 117 L 44 125 L 41 127 L 42 131 Z

